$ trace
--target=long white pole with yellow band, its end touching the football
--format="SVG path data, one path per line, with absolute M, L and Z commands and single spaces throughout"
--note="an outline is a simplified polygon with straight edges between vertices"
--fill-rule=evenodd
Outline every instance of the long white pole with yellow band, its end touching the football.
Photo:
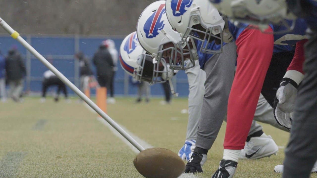
M 28 42 L 26 42 L 18 32 L 10 27 L 0 17 L 0 25 L 5 29 L 13 39 L 19 41 L 26 49 L 29 50 L 38 60 L 40 60 L 46 67 L 49 68 L 61 81 L 63 81 L 69 88 L 71 88 L 82 100 L 84 100 L 91 108 L 93 108 L 102 118 L 104 118 L 115 130 L 117 130 L 123 137 L 125 137 L 135 148 L 143 151 L 144 148 L 135 141 L 129 134 L 126 133 L 116 122 L 114 122 L 104 111 L 102 111 L 93 101 L 91 101 L 83 92 L 81 92 L 72 82 L 70 82 L 61 72 L 59 72 L 52 64 L 49 63 L 40 53 L 38 53 Z M 106 102 L 106 101 L 105 101 Z

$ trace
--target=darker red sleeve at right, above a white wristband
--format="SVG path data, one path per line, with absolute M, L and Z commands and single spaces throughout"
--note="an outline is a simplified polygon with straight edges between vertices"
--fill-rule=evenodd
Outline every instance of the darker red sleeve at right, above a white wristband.
M 298 41 L 296 43 L 295 54 L 291 64 L 288 66 L 287 70 L 296 70 L 298 72 L 303 72 L 303 63 L 305 61 L 304 54 L 304 44 L 307 42 L 307 39 Z

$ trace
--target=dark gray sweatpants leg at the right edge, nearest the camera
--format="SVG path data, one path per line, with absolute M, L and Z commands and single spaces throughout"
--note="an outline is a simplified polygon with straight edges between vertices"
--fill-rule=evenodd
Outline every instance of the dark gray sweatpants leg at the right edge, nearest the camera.
M 308 30 L 307 30 L 308 31 Z M 283 178 L 308 178 L 317 160 L 317 31 L 307 33 L 305 77 L 298 87 Z

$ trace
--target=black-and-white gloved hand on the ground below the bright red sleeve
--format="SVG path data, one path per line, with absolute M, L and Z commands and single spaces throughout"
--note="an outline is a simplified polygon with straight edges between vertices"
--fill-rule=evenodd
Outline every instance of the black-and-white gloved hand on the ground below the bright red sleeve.
M 232 178 L 235 175 L 237 162 L 230 160 L 221 160 L 219 168 L 211 178 Z

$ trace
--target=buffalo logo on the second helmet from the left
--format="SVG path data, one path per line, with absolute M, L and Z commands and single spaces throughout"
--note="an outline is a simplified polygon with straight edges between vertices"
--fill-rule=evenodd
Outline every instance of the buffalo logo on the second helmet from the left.
M 159 35 L 160 31 L 165 26 L 164 20 L 161 21 L 161 18 L 165 13 L 165 4 L 161 4 L 159 8 L 146 20 L 143 27 L 146 38 L 154 38 Z

